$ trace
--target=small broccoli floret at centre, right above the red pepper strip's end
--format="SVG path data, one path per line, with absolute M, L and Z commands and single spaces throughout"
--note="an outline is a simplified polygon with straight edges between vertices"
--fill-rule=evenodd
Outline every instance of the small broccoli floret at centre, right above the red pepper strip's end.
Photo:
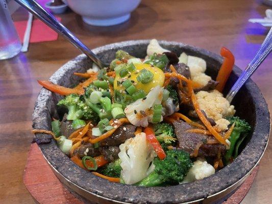
M 176 142 L 174 127 L 171 124 L 160 122 L 153 124 L 153 127 L 155 136 L 159 142 L 164 142 L 168 145 Z

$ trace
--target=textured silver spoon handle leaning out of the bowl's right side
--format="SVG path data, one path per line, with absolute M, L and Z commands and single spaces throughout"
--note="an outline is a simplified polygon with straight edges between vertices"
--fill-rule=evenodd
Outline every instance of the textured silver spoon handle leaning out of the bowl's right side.
M 263 60 L 268 56 L 268 54 L 272 50 L 272 28 L 268 32 L 266 38 L 264 39 L 258 53 L 255 55 L 253 60 L 249 63 L 249 65 L 242 72 L 238 80 L 232 86 L 231 90 L 227 94 L 226 98 L 231 103 L 232 99 L 236 95 L 236 93 L 240 90 L 246 80 L 248 80 L 251 75 L 256 71 L 256 69 L 260 66 Z

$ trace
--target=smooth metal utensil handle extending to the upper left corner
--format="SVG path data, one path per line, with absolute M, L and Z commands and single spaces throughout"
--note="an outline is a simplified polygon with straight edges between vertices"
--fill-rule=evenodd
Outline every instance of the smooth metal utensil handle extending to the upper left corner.
M 63 24 L 61 24 L 55 16 L 45 11 L 41 5 L 34 0 L 15 0 L 19 5 L 27 9 L 30 13 L 35 15 L 45 24 L 47 24 L 54 31 L 65 37 L 78 49 L 80 49 L 85 55 L 87 55 L 95 64 L 100 68 L 104 68 L 107 65 L 104 64 L 91 50 L 83 44 L 75 35 L 73 35 Z

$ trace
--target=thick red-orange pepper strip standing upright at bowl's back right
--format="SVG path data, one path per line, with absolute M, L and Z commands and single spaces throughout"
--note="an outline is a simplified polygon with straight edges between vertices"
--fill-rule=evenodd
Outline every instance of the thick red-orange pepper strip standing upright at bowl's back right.
M 216 81 L 219 82 L 219 84 L 216 86 L 216 89 L 222 92 L 226 82 L 230 77 L 235 60 L 233 54 L 226 47 L 221 47 L 220 55 L 224 57 L 224 61 L 216 77 Z

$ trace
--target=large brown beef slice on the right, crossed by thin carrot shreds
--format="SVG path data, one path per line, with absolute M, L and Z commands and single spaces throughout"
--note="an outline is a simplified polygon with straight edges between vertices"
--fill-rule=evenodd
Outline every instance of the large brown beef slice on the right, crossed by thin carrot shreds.
M 213 137 L 198 133 L 189 133 L 186 132 L 193 127 L 187 122 L 176 121 L 173 123 L 175 128 L 175 133 L 177 135 L 179 141 L 179 148 L 187 151 L 190 155 L 193 153 L 196 145 L 200 142 L 204 144 L 201 145 L 199 149 L 199 154 L 197 156 L 205 156 L 205 157 L 216 157 L 218 155 L 218 151 L 221 151 L 221 155 L 225 154 L 226 146 L 222 144 L 205 144 L 208 139 L 212 139 Z

